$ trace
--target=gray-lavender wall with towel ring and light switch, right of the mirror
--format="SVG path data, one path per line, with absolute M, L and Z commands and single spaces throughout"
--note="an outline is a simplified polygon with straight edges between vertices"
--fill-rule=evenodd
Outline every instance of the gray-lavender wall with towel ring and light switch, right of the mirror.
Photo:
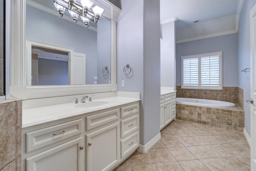
M 117 25 L 118 91 L 140 92 L 140 144 L 145 145 L 160 132 L 160 24 L 156 24 L 160 2 L 121 0 L 121 4 Z M 127 76 L 123 73 L 126 64 L 132 68 Z M 121 87 L 121 80 L 125 87 Z

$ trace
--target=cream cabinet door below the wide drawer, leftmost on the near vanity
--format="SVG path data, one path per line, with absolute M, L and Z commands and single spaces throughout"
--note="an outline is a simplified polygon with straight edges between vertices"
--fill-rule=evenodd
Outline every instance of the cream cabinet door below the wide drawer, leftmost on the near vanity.
M 26 158 L 26 171 L 82 171 L 82 137 Z

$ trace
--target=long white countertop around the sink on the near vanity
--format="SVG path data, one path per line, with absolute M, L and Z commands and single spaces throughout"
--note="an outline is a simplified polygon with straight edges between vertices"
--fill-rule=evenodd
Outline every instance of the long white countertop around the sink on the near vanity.
M 115 107 L 115 106 L 123 105 L 126 103 L 132 103 L 135 101 L 140 101 L 140 99 L 115 96 L 115 97 L 95 99 L 93 101 L 107 101 L 108 103 L 105 105 L 100 105 L 96 107 L 82 108 L 82 107 L 75 107 L 75 105 L 77 104 L 73 102 L 73 103 L 63 103 L 63 104 L 50 105 L 50 106 L 44 106 L 44 107 L 36 107 L 31 109 L 23 109 L 22 110 L 22 128 L 39 125 L 39 124 L 47 123 L 50 121 L 56 121 L 59 119 L 64 119 L 64 118 L 68 118 L 76 115 L 81 115 L 84 113 L 107 109 L 110 107 Z

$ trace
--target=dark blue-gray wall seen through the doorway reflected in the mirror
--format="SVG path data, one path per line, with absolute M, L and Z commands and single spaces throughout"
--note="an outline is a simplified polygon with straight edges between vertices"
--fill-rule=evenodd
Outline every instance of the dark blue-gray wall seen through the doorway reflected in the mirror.
M 38 58 L 38 85 L 67 85 L 68 62 Z

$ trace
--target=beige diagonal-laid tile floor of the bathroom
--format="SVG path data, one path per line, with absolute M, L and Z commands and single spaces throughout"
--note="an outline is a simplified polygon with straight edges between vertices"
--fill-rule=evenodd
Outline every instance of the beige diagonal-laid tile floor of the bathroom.
M 176 119 L 161 137 L 114 171 L 250 171 L 250 147 L 242 132 Z

